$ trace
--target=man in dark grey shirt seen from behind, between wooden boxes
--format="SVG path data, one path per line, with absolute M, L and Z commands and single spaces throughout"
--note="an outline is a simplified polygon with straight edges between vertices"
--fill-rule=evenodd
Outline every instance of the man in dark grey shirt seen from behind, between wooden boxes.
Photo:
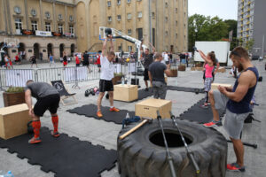
M 164 73 L 171 74 L 169 68 L 160 63 L 162 56 L 160 53 L 156 53 L 154 56 L 154 62 L 149 66 L 149 78 L 153 83 L 153 97 L 165 99 L 167 93 L 167 84 L 164 80 Z

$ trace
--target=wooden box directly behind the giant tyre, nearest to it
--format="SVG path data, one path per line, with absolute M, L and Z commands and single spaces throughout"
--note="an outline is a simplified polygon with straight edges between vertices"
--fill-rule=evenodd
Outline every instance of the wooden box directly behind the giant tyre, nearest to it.
M 172 102 L 150 98 L 135 104 L 135 114 L 141 118 L 156 119 L 157 110 L 159 110 L 161 118 L 170 118 L 169 112 L 172 110 Z

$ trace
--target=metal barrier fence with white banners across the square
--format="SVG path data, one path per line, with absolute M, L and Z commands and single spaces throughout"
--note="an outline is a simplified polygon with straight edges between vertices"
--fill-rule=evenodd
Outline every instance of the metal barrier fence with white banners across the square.
M 115 73 L 128 73 L 127 65 L 113 64 Z M 24 87 L 26 81 L 64 81 L 65 83 L 98 80 L 100 73 L 98 65 L 90 65 L 90 71 L 86 66 L 81 67 L 54 67 L 35 69 L 0 69 L 0 89 L 6 87 Z

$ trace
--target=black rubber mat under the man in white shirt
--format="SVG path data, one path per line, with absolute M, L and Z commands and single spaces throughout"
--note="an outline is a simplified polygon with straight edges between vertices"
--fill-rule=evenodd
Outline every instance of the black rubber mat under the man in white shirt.
M 97 105 L 95 104 L 86 104 L 81 107 L 76 107 L 72 110 L 66 110 L 66 112 L 76 113 L 78 115 L 84 115 L 86 117 L 92 117 L 95 119 L 103 119 L 107 122 L 113 122 L 116 124 L 121 124 L 122 120 L 127 116 L 127 110 L 121 110 L 120 112 L 110 112 L 110 107 L 102 106 L 101 111 L 103 114 L 102 118 L 98 118 L 96 112 L 98 110 Z M 129 112 L 129 116 L 135 116 L 135 112 Z

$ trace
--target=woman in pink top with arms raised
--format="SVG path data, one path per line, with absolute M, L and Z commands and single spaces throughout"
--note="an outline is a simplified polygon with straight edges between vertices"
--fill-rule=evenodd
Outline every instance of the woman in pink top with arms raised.
M 207 108 L 208 104 L 208 91 L 211 89 L 211 84 L 213 82 L 213 70 L 215 68 L 215 53 L 209 52 L 207 56 L 199 50 L 200 57 L 204 59 L 206 65 L 205 68 L 205 81 L 204 81 L 204 90 L 205 90 L 205 103 L 202 105 L 203 108 Z

